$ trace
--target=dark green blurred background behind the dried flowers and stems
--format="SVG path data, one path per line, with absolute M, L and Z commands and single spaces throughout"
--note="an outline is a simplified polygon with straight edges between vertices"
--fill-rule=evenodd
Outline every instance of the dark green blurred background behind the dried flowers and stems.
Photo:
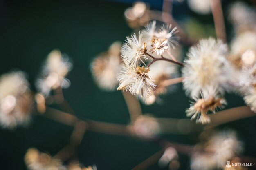
M 160 3 L 160 2 L 159 2 Z M 60 49 L 72 58 L 74 68 L 67 76 L 72 82 L 64 95 L 77 115 L 99 121 L 127 124 L 128 110 L 120 91 L 103 92 L 90 73 L 93 57 L 116 41 L 124 41 L 132 30 L 123 13 L 131 4 L 108 1 L 1 1 L 0 2 L 0 73 L 22 70 L 29 75 L 31 89 L 42 62 L 53 49 Z M 161 6 L 161 5 L 160 5 Z M 193 15 L 212 24 L 211 15 L 200 17 L 186 5 L 174 8 L 177 18 Z M 180 15 L 181 13 L 182 16 Z M 232 34 L 231 29 L 227 32 Z M 155 117 L 184 118 L 189 99 L 182 86 L 163 97 L 164 103 L 142 106 L 144 113 Z M 227 108 L 244 105 L 236 95 L 227 95 Z M 241 113 L 242 114 L 242 113 Z M 256 156 L 256 117 L 226 124 L 245 143 L 245 155 Z M 25 170 L 23 156 L 30 147 L 54 155 L 68 141 L 72 128 L 49 119 L 33 116 L 28 128 L 0 130 L 0 170 Z M 164 135 L 164 138 L 195 144 L 197 134 Z M 159 146 L 123 136 L 86 132 L 79 146 L 79 161 L 95 164 L 98 170 L 129 170 L 153 153 Z M 180 155 L 181 168 L 188 169 L 189 158 Z M 150 169 L 160 169 L 157 165 Z

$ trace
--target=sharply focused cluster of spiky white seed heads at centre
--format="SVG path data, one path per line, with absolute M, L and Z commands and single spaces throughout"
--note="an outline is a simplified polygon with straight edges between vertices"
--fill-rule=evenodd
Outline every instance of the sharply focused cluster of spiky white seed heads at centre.
M 120 83 L 118 90 L 126 90 L 133 95 L 139 95 L 146 104 L 152 104 L 158 94 L 164 93 L 164 88 L 156 91 L 157 85 L 162 80 L 170 78 L 175 69 L 170 64 L 162 64 L 159 70 L 152 67 L 154 71 L 150 71 L 150 66 L 156 59 L 165 60 L 163 55 L 171 54 L 171 49 L 177 45 L 177 38 L 174 36 L 176 31 L 176 28 L 171 29 L 171 25 L 163 25 L 156 31 L 156 22 L 153 21 L 146 26 L 145 30 L 139 32 L 138 37 L 136 34 L 127 37 L 121 48 L 121 58 L 124 64 L 118 76 Z M 147 62 L 150 62 L 148 66 L 146 66 Z M 151 74 L 154 79 L 150 76 Z

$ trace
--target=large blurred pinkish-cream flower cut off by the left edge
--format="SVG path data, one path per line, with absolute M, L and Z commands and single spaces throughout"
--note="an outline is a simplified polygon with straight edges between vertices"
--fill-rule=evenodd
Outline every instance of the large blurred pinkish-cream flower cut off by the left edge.
M 0 77 L 0 125 L 3 128 L 27 124 L 32 104 L 25 73 L 16 71 Z

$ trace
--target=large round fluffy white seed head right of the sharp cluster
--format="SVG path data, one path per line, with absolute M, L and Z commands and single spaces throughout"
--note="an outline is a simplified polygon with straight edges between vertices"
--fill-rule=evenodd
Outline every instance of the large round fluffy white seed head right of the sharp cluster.
M 191 97 L 207 95 L 209 89 L 223 93 L 232 79 L 233 68 L 227 60 L 227 45 L 213 38 L 200 40 L 189 49 L 182 69 L 183 87 Z

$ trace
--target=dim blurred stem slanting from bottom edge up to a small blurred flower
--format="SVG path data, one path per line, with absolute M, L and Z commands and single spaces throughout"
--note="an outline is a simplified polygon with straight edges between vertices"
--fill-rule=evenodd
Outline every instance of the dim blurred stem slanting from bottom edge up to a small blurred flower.
M 156 152 L 152 156 L 148 157 L 146 160 L 139 163 L 139 165 L 132 168 L 132 170 L 146 170 L 146 169 L 148 169 L 150 166 L 154 165 L 162 157 L 163 154 L 164 154 L 164 149 L 159 150 L 158 152 Z

